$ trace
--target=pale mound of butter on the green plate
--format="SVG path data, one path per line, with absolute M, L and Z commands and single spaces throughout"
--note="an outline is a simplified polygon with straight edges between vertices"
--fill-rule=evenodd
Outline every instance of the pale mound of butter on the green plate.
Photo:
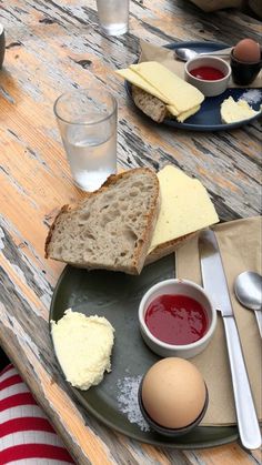
M 67 381 L 80 390 L 99 384 L 111 371 L 114 330 L 102 316 L 85 316 L 71 309 L 51 322 L 54 351 Z

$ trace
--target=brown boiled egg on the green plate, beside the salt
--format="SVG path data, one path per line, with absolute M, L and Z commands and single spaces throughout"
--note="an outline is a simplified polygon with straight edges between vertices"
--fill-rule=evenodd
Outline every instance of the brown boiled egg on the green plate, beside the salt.
M 183 428 L 203 412 L 206 387 L 191 362 L 168 357 L 148 371 L 141 397 L 143 408 L 153 422 L 165 428 Z

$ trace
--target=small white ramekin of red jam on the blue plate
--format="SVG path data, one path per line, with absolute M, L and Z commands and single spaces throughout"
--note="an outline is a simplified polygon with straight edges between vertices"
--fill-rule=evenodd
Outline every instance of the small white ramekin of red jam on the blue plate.
M 223 93 L 230 81 L 231 67 L 219 57 L 196 57 L 184 65 L 184 79 L 205 97 Z

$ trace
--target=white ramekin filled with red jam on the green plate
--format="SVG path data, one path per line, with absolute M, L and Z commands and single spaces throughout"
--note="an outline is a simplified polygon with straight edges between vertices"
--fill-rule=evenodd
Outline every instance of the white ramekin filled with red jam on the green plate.
M 200 285 L 171 279 L 144 294 L 139 305 L 139 325 L 145 344 L 155 354 L 191 358 L 210 343 L 216 311 Z

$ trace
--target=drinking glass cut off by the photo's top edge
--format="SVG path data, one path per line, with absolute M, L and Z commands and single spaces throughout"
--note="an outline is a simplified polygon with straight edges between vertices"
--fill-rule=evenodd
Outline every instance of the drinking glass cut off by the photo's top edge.
M 97 0 L 101 28 L 109 36 L 121 36 L 129 29 L 129 0 Z

